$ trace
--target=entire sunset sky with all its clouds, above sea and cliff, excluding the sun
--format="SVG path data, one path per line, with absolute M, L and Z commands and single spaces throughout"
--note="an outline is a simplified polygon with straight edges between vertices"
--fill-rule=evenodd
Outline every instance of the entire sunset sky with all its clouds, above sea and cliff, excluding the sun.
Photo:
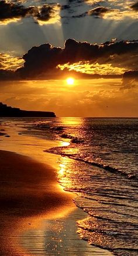
M 134 0 L 0 1 L 0 102 L 138 117 L 137 21 Z

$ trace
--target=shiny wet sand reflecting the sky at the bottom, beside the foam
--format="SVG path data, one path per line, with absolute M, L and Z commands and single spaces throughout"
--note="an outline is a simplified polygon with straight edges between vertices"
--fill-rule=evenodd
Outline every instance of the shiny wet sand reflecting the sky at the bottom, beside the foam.
M 76 221 L 85 217 L 85 213 L 75 208 L 60 218 L 43 220 L 41 227 L 22 235 L 21 245 L 35 255 L 112 255 L 78 237 Z

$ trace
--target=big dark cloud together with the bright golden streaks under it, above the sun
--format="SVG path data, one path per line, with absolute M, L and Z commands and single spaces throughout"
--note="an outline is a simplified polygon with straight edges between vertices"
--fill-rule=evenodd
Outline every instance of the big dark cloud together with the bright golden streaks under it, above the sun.
M 15 78 L 17 76 L 23 79 L 61 79 L 62 76 L 69 74 L 69 70 L 73 75 L 80 76 L 82 73 L 88 78 L 91 78 L 91 74 L 97 78 L 100 75 L 119 75 L 131 69 L 138 70 L 137 50 L 137 41 L 112 40 L 97 45 L 68 39 L 64 48 L 45 43 L 34 46 L 23 55 L 24 65 L 14 72 Z M 2 63 L 1 68 L 4 69 Z M 4 76 L 6 73 L 2 73 L 2 78 Z

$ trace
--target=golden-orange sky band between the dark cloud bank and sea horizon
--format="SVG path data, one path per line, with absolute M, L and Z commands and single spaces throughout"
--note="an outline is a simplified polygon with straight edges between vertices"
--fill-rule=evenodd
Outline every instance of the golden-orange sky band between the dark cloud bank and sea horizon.
M 10 86 L 9 86 L 10 84 Z M 6 82 L 2 102 L 26 110 L 50 110 L 57 116 L 137 116 L 136 87 L 122 79 L 81 79 Z

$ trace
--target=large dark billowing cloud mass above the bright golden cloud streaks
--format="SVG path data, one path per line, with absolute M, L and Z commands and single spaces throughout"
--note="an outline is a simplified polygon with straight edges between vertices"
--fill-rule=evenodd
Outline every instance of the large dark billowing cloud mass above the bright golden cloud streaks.
M 115 66 L 120 67 L 120 58 L 126 60 L 126 58 L 131 58 L 134 55 L 137 60 L 137 50 L 137 42 L 127 41 L 112 41 L 96 45 L 68 39 L 65 41 L 65 47 L 63 49 L 52 47 L 49 43 L 46 43 L 38 47 L 33 47 L 23 56 L 25 64 L 22 72 L 26 76 L 32 76 L 34 73 L 37 75 L 50 72 L 50 70 L 56 69 L 57 65 L 77 63 L 80 61 L 98 62 L 100 64 L 115 63 Z M 123 63 L 123 59 L 122 66 L 125 68 L 127 64 L 131 68 L 132 63 Z

